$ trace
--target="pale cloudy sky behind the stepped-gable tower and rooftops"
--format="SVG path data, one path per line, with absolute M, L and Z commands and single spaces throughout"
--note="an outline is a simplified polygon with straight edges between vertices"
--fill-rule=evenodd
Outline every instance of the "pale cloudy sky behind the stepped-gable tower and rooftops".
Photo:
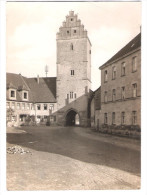
M 69 11 L 78 14 L 92 43 L 92 90 L 99 67 L 139 32 L 140 2 L 7 2 L 6 71 L 26 77 L 56 76 L 56 33 Z

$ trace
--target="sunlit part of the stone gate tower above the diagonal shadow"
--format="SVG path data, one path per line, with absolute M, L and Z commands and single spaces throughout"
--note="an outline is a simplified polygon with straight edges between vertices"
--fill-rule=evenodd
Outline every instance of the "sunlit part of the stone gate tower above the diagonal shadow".
M 91 88 L 91 43 L 84 25 L 74 11 L 70 11 L 66 16 L 56 40 L 59 121 L 59 118 L 63 118 L 61 115 L 66 108 L 69 108 L 69 105 L 73 107 L 72 102 L 87 94 Z

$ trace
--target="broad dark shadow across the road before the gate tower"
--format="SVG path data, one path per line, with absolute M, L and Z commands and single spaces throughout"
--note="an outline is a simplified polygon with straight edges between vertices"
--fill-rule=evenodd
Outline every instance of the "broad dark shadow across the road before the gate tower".
M 140 175 L 139 151 L 88 139 L 75 133 L 72 127 L 23 129 L 26 133 L 7 133 L 7 142 Z

